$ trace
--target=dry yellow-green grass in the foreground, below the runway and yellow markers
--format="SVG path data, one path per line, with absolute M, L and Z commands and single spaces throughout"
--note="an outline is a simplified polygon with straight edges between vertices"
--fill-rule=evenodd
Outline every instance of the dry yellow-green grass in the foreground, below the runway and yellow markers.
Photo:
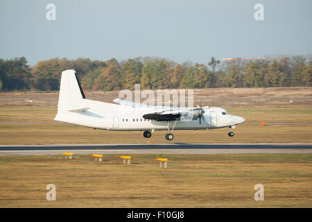
M 166 155 L 167 169 L 160 156 L 1 156 L 0 207 L 312 207 L 311 154 Z

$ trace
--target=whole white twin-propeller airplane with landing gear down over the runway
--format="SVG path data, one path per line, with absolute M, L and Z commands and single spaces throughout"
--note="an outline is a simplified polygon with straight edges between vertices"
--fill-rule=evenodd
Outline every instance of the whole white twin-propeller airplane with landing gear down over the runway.
M 195 107 L 177 108 L 132 103 L 115 99 L 113 103 L 104 103 L 85 98 L 83 88 L 76 71 L 62 71 L 58 113 L 54 120 L 73 123 L 102 130 L 144 131 L 146 138 L 155 130 L 168 130 L 166 139 L 173 139 L 173 130 L 200 130 L 231 128 L 228 133 L 233 137 L 232 128 L 245 119 L 228 114 L 223 108 Z

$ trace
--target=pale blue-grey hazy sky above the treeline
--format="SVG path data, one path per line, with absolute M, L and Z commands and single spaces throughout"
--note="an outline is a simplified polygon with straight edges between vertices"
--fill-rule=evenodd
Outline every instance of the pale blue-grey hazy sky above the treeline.
M 46 19 L 46 5 L 56 20 Z M 264 21 L 254 5 L 264 6 Z M 311 0 L 0 0 L 0 58 L 92 60 L 312 53 Z

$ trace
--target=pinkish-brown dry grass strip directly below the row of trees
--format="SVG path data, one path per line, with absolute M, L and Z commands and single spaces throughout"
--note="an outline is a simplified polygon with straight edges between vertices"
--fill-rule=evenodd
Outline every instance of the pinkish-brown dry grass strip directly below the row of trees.
M 154 91 L 156 95 L 156 90 Z M 133 92 L 132 92 L 133 94 Z M 85 92 L 87 99 L 112 103 L 119 91 Z M 193 89 L 194 103 L 227 107 L 311 107 L 312 87 Z M 143 100 L 143 99 L 142 99 Z M 32 102 L 30 102 L 32 101 Z M 293 101 L 290 103 L 289 101 Z M 1 92 L 0 106 L 54 106 L 58 92 Z M 195 105 L 194 104 L 194 105 Z

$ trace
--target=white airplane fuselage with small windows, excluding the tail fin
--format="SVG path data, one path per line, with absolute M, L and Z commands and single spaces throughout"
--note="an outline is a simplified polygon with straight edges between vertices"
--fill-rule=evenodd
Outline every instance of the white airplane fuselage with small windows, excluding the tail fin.
M 115 105 L 99 101 L 87 100 L 90 106 L 87 110 L 78 112 L 58 112 L 55 120 L 73 123 L 80 126 L 103 130 L 168 130 L 167 121 L 144 119 L 146 112 L 153 112 L 150 108 L 131 108 L 128 105 Z M 105 104 L 105 105 L 103 105 Z M 235 126 L 245 119 L 227 114 L 223 108 L 211 107 L 205 110 L 202 121 L 169 121 L 170 127 L 175 130 L 200 130 Z

